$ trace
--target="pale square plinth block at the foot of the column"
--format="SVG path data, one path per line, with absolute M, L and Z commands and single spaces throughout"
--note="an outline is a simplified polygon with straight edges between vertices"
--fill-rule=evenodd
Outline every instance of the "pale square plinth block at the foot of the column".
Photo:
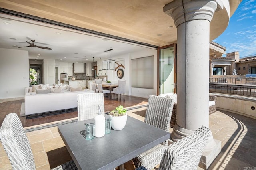
M 210 164 L 212 164 L 212 162 L 218 156 L 221 150 L 220 140 L 216 140 L 216 139 L 213 139 L 213 140 L 215 141 L 216 145 L 211 150 L 207 150 L 202 153 L 202 156 L 198 165 L 200 168 L 203 168 L 205 170 L 209 168 Z

